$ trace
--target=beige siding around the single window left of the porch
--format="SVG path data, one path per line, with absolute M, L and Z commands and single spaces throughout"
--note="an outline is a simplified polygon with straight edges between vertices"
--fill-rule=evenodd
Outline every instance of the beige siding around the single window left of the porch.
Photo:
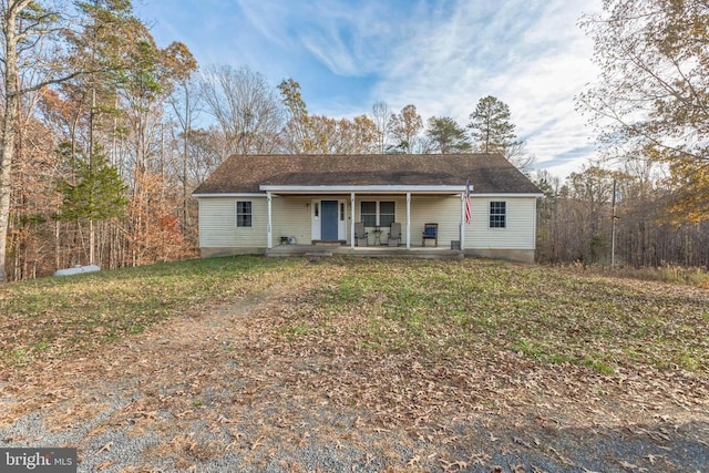
M 236 226 L 237 200 L 251 202 L 251 226 Z M 201 248 L 265 248 L 268 208 L 265 197 L 203 197 L 199 202 Z

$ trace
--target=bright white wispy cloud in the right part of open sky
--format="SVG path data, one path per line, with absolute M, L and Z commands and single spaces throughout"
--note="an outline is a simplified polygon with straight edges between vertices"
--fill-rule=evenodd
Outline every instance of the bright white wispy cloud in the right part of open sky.
M 578 3 L 505 1 L 485 10 L 475 3 L 462 1 L 438 24 L 419 23 L 420 34 L 397 48 L 415 54 L 394 60 L 374 96 L 465 124 L 477 100 L 494 95 L 510 105 L 517 135 L 540 163 L 556 160 L 566 169 L 566 160 L 589 156 L 574 97 L 595 69 L 590 40 L 576 27 Z

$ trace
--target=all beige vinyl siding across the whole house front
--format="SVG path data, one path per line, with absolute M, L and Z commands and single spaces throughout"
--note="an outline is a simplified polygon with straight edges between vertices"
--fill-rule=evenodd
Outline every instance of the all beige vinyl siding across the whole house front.
M 273 197 L 273 245 L 277 246 L 281 236 L 295 236 L 300 245 L 312 240 L 314 198 L 346 202 L 346 232 L 351 241 L 351 212 L 349 195 L 333 196 L 274 196 Z M 236 202 L 251 202 L 251 227 L 236 226 Z M 360 202 L 395 203 L 395 222 L 401 223 L 402 245 L 407 241 L 405 195 L 360 195 L 356 196 L 354 222 L 360 222 Z M 506 203 L 506 227 L 490 228 L 490 202 Z M 202 197 L 199 203 L 199 247 L 202 248 L 266 248 L 268 207 L 264 197 Z M 536 232 L 536 199 L 534 197 L 473 197 L 472 224 L 465 226 L 466 249 L 534 249 Z M 452 240 L 460 239 L 460 196 L 412 195 L 411 196 L 411 245 L 421 246 L 423 225 L 439 224 L 439 246 L 450 247 Z M 371 229 L 370 229 L 371 230 Z M 370 232 L 370 245 L 373 233 Z M 383 229 L 381 243 L 386 244 L 388 229 Z M 430 245 L 431 241 L 427 241 Z

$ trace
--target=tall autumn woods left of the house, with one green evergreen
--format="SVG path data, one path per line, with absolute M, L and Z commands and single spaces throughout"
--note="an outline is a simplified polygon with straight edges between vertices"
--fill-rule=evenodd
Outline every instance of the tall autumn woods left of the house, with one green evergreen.
M 187 48 L 158 48 L 129 0 L 2 13 L 0 279 L 191 254 L 165 111 L 196 70 Z

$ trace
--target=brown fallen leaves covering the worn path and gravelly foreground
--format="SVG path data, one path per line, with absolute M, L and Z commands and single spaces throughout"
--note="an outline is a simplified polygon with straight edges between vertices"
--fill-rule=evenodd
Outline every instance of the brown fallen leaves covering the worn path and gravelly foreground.
M 443 277 L 450 268 L 434 264 L 423 270 L 420 265 L 397 263 L 384 271 L 361 263 L 306 261 L 261 274 L 256 282 L 242 279 L 243 290 L 234 297 L 185 307 L 143 333 L 80 356 L 9 370 L 1 384 L 8 402 L 3 401 L 0 423 L 42 411 L 47 430 L 69 429 L 104 412 L 107 400 L 116 399 L 120 407 L 86 434 L 84 443 L 109 430 L 136 436 L 157 432 L 165 441 L 145 455 L 173 459 L 175 467 L 194 467 L 225 452 L 237 452 L 258 465 L 289 449 L 333 444 L 337 451 L 337 445 L 348 444 L 377 452 L 376 461 L 393 465 L 393 471 L 425 471 L 433 464 L 460 471 L 476 464 L 492 467 L 495 460 L 481 446 L 493 444 L 499 451 L 536 451 L 559 464 L 583 466 L 535 436 L 540 431 L 629 429 L 631 435 L 661 444 L 681 425 L 709 421 L 706 371 L 618 354 L 614 372 L 606 374 L 590 364 L 549 362 L 512 350 L 508 333 L 494 338 L 495 330 L 512 330 L 512 322 L 502 327 L 493 320 L 502 311 L 533 313 L 527 292 L 542 301 L 571 297 L 557 287 L 530 288 L 508 271 L 505 284 L 472 281 L 469 298 L 454 301 Z M 466 265 L 472 266 L 462 270 L 475 269 L 475 263 Z M 419 281 L 403 286 L 412 268 Z M 386 281 L 381 290 L 372 282 L 378 279 Z M 400 294 L 392 280 L 409 291 L 403 299 L 397 300 Z M 602 282 L 583 284 L 593 294 Z M 630 317 L 660 286 L 640 284 L 629 292 L 621 292 L 621 287 L 609 291 L 619 295 L 616 302 L 626 301 Z M 507 295 L 503 308 L 487 310 L 502 300 L 501 294 Z M 671 307 L 682 317 L 691 316 L 681 304 L 697 308 L 707 301 L 706 295 L 688 288 L 671 297 Z M 419 304 L 422 300 L 427 305 Z M 464 313 L 454 313 L 458 305 Z M 584 309 L 583 301 L 576 306 Z M 464 317 L 476 307 L 474 317 Z M 440 321 L 427 319 L 436 313 Z M 489 326 L 473 325 L 482 318 Z M 568 318 L 559 313 L 558 323 Z M 619 329 L 615 326 L 620 318 L 619 312 L 610 313 L 608 327 Z M 590 320 L 562 328 L 547 315 L 537 320 L 547 320 L 551 332 L 582 325 L 599 330 Z M 520 323 L 517 330 L 524 327 Z M 627 321 L 626 328 L 635 325 Z M 584 329 L 578 330 L 583 337 Z M 705 333 L 707 327 L 696 330 Z M 608 333 L 589 343 L 609 351 L 621 336 Z M 111 449 L 115 446 L 105 444 L 93 454 Z M 646 454 L 645 466 L 618 464 L 641 471 L 660 457 Z M 288 470 L 298 471 L 298 465 L 284 461 Z M 361 459 L 362 464 L 373 461 L 374 456 Z M 100 470 L 112 464 L 97 465 Z

